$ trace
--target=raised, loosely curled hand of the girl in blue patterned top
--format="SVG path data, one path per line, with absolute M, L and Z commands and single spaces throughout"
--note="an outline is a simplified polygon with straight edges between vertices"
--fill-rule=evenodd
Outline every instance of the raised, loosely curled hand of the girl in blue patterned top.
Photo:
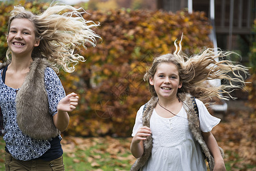
M 58 112 L 71 112 L 74 111 L 76 106 L 78 105 L 78 95 L 74 92 L 70 93 L 66 97 L 64 97 L 62 100 L 59 101 L 59 104 L 57 106 Z

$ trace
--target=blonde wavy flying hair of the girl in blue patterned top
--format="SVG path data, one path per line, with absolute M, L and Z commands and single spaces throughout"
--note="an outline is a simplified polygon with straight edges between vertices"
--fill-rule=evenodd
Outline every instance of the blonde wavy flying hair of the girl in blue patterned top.
M 10 13 L 8 34 L 13 19 L 29 19 L 35 26 L 35 38 L 40 40 L 39 46 L 32 51 L 32 58 L 46 58 L 57 72 L 60 67 L 64 71 L 73 72 L 79 61 L 85 61 L 83 56 L 75 54 L 75 48 L 86 48 L 87 43 L 96 46 L 96 38 L 100 38 L 91 30 L 99 26 L 99 23 L 86 21 L 83 13 L 86 12 L 82 8 L 76 9 L 59 3 L 48 7 L 40 15 L 32 14 L 22 6 L 14 6 Z M 8 48 L 7 59 L 10 54 Z

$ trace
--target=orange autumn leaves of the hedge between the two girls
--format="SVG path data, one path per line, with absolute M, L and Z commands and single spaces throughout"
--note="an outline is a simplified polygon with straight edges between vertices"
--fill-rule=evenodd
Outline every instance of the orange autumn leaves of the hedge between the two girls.
M 100 21 L 101 27 L 96 32 L 101 35 L 103 42 L 96 48 L 82 51 L 82 55 L 87 56 L 87 62 L 81 64 L 82 68 L 77 67 L 78 70 L 88 67 L 92 71 L 89 77 L 90 83 L 94 85 L 92 89 L 85 87 L 84 91 L 84 96 L 90 96 L 86 99 L 89 100 L 87 104 L 91 110 L 88 114 L 81 113 L 80 116 L 84 116 L 89 123 L 95 123 L 94 119 L 101 124 L 113 123 L 106 133 L 127 136 L 131 134 L 137 109 L 150 97 L 143 75 L 153 56 L 173 52 L 173 42 L 180 38 L 182 32 L 184 49 L 193 51 L 193 46 L 210 47 L 210 26 L 201 13 L 190 15 L 186 11 L 177 14 L 147 10 L 90 13 L 91 16 L 84 17 Z M 199 29 L 205 30 L 202 31 L 204 34 Z M 190 38 L 189 34 L 193 34 L 193 37 Z M 202 41 L 198 41 L 199 39 Z M 108 104 L 104 107 L 105 99 L 108 99 Z M 100 115 L 104 118 L 111 117 L 99 117 L 99 108 Z M 96 128 L 101 130 L 97 126 Z M 87 129 L 90 132 L 96 131 L 92 127 Z

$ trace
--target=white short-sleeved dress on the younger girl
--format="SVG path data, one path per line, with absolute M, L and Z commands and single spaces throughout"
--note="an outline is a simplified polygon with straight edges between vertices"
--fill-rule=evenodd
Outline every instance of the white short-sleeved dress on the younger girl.
M 210 115 L 202 101 L 196 99 L 202 132 L 210 132 L 220 123 L 220 119 Z M 132 136 L 142 127 L 143 106 L 137 112 Z M 155 109 L 151 116 L 151 131 L 153 138 L 152 155 L 143 170 L 206 170 L 200 145 L 194 140 L 189 129 L 185 109 L 182 107 L 177 116 L 164 118 Z

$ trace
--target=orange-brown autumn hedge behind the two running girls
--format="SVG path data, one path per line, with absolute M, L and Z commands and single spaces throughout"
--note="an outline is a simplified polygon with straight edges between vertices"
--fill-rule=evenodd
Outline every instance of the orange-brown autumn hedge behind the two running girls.
M 19 1 L 34 13 L 48 3 Z M 0 53 L 5 56 L 7 19 L 13 5 L 0 7 Z M 174 51 L 174 40 L 182 40 L 187 54 L 212 47 L 211 27 L 204 13 L 167 13 L 148 10 L 90 11 L 85 19 L 100 22 L 97 46 L 76 50 L 87 61 L 72 74 L 60 71 L 67 93 L 80 96 L 78 109 L 70 113 L 66 135 L 130 136 L 136 112 L 151 97 L 143 75 L 156 55 Z

